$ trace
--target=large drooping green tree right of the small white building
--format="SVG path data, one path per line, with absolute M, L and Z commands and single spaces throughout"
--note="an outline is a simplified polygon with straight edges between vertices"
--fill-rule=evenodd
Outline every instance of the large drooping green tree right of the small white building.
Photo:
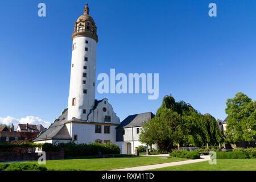
M 157 143 L 162 151 L 170 151 L 174 144 L 216 145 L 222 142 L 223 136 L 212 115 L 202 115 L 190 104 L 166 96 L 155 118 L 144 123 L 139 139 L 148 145 Z

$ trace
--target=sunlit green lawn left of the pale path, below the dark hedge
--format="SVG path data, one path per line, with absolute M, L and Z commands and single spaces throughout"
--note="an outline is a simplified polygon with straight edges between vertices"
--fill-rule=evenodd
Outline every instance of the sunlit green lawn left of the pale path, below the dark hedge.
M 138 158 L 104 158 L 104 159 L 65 159 L 65 160 L 47 160 L 48 170 L 82 170 L 99 171 L 126 167 L 146 166 L 151 164 L 161 164 L 188 160 L 182 158 L 161 159 L 159 156 L 138 157 Z M 35 163 L 38 162 L 26 162 Z

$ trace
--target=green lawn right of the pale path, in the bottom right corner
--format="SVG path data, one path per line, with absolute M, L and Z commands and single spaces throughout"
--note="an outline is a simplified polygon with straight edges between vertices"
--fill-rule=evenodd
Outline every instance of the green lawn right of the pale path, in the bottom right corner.
M 159 168 L 154 171 L 256 171 L 256 159 L 217 159 L 216 165 L 210 165 L 205 161 Z

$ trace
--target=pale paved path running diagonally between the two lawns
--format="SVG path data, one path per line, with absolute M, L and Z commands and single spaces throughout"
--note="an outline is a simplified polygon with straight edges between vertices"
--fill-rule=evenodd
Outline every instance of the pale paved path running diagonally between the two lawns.
M 202 155 L 201 159 L 184 160 L 179 162 L 153 164 L 148 166 L 138 166 L 138 167 L 123 168 L 123 169 L 114 169 L 111 171 L 145 171 L 145 170 L 157 169 L 157 168 L 163 168 L 163 167 L 179 166 L 183 164 L 199 163 L 199 162 L 207 161 L 209 159 L 210 159 L 209 155 Z

